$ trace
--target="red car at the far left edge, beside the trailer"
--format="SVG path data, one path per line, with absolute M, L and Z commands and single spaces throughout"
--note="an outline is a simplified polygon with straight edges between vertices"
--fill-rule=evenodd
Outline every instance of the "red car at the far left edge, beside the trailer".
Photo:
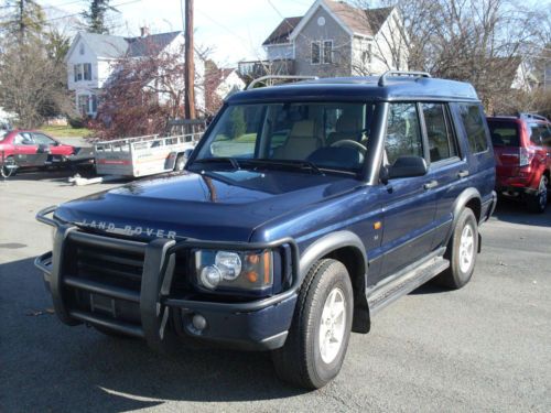
M 31 130 L 12 130 L 0 133 L 0 164 L 19 167 L 45 166 L 63 163 L 75 153 L 75 148 L 47 134 Z

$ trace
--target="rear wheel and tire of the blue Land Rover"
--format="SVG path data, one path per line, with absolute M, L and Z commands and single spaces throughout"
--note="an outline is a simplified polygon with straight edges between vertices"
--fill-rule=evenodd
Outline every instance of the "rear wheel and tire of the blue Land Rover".
M 478 253 L 478 222 L 471 208 L 461 211 L 447 243 L 444 258 L 450 268 L 439 274 L 434 282 L 452 290 L 466 285 L 473 276 Z

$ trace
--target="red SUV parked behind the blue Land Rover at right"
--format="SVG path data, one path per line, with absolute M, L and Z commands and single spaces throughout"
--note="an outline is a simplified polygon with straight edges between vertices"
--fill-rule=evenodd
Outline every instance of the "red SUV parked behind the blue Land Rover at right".
M 548 204 L 551 176 L 551 122 L 538 115 L 490 117 L 496 156 L 496 189 L 521 198 L 533 213 Z

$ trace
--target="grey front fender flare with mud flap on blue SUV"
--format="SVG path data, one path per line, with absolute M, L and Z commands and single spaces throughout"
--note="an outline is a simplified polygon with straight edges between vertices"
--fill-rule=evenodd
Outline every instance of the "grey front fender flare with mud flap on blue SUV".
M 352 248 L 356 252 L 356 258 L 360 258 L 361 267 L 356 273 L 349 274 L 354 290 L 352 329 L 356 333 L 368 333 L 370 329 L 369 306 L 366 296 L 368 261 L 364 242 L 356 233 L 347 230 L 332 232 L 309 246 L 301 254 L 299 269 L 301 283 L 316 261 L 342 248 Z

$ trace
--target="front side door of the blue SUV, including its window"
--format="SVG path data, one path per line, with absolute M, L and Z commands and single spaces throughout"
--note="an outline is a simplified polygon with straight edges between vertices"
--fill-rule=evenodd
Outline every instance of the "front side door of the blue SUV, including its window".
M 389 105 L 385 163 L 402 155 L 428 156 L 423 145 L 418 105 Z M 382 265 L 377 281 L 399 271 L 431 251 L 436 196 L 434 177 L 390 180 L 381 191 L 385 222 L 382 226 Z

